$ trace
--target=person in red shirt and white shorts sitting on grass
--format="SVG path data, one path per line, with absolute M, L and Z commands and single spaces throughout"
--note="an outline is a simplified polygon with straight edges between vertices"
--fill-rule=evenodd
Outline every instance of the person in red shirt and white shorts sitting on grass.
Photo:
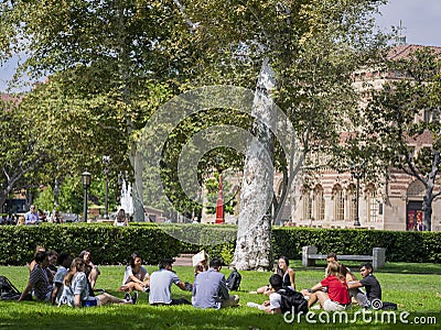
M 322 288 L 327 287 L 327 293 Z M 345 276 L 340 272 L 340 265 L 336 262 L 327 264 L 327 276 L 322 282 L 308 289 L 310 293 L 309 306 L 319 300 L 322 308 L 326 311 L 345 310 L 351 306 L 349 290 Z

